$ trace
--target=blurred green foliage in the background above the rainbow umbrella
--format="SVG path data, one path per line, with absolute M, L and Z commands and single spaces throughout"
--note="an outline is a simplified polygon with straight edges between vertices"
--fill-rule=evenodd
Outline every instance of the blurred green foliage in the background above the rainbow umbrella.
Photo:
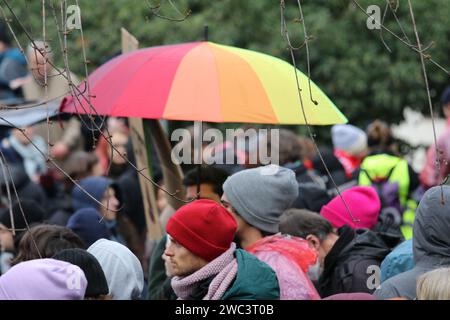
M 63 66 L 51 3 L 61 21 L 61 3 L 48 0 L 46 32 L 55 51 L 57 65 Z M 303 42 L 297 0 L 286 0 L 285 13 L 294 44 Z M 360 0 L 363 8 L 378 5 L 383 14 L 386 1 Z M 392 1 L 391 1 L 392 2 Z M 407 37 L 415 44 L 408 3 L 398 4 L 396 12 Z M 67 5 L 76 4 L 68 0 Z M 204 25 L 209 26 L 209 40 L 261 51 L 291 61 L 280 30 L 280 1 L 276 0 L 79 0 L 87 59 L 92 71 L 118 54 L 121 49 L 120 27 L 125 27 L 140 41 L 141 47 L 203 40 Z M 390 123 L 403 117 L 407 106 L 427 114 L 428 103 L 420 58 L 399 40 L 379 30 L 369 30 L 367 15 L 351 0 L 301 1 L 310 41 L 311 77 L 335 102 L 351 123 L 364 127 L 380 118 Z M 450 69 L 450 1 L 413 0 L 415 19 L 423 46 L 441 65 Z M 14 0 L 10 5 L 34 39 L 42 39 L 41 1 Z M 153 14 L 180 22 L 162 19 Z M 2 4 L 7 16 L 13 19 Z M 401 35 L 401 28 L 388 10 L 385 25 Z M 13 19 L 14 30 L 22 45 L 28 40 Z M 82 41 L 78 30 L 68 35 L 69 65 L 72 72 L 84 76 Z M 298 67 L 306 72 L 305 49 L 296 52 Z M 435 110 L 439 96 L 449 84 L 449 76 L 427 63 Z M 293 106 L 295 107 L 295 106 Z

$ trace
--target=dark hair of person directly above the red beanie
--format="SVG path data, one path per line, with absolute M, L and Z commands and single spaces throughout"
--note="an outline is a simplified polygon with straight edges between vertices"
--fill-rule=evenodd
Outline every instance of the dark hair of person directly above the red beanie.
M 186 187 L 197 185 L 198 168 L 189 170 L 183 179 L 183 184 Z M 222 185 L 227 180 L 228 173 L 222 169 L 212 166 L 202 166 L 200 172 L 200 184 L 208 183 L 213 186 L 213 190 L 219 196 L 222 196 Z

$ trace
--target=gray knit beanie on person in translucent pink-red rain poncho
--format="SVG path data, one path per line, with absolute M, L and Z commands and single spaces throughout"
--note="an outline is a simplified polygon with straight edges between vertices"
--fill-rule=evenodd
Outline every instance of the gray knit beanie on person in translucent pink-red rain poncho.
M 223 191 L 248 224 L 277 233 L 281 214 L 298 197 L 298 183 L 291 169 L 270 165 L 233 174 L 223 184 Z

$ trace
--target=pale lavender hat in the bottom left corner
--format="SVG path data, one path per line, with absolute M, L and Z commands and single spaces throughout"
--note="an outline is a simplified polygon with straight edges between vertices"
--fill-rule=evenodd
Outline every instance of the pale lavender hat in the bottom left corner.
M 0 277 L 0 300 L 82 300 L 86 287 L 80 267 L 35 259 L 13 266 Z

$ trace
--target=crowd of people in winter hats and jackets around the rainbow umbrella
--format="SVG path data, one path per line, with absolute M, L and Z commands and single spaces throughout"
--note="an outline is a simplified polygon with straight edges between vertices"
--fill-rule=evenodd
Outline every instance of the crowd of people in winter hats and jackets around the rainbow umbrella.
M 48 44 L 25 60 L 0 32 L 0 51 L 3 101 L 69 92 L 45 63 Z M 94 137 L 76 116 L 3 127 L 0 299 L 450 299 L 450 87 L 442 106 L 439 154 L 431 146 L 420 173 L 380 120 L 333 126 L 320 154 L 279 129 L 279 164 L 250 164 L 244 147 L 235 164 L 182 166 L 188 201 L 173 207 L 157 191 L 156 242 L 126 119 Z M 164 186 L 164 160 L 152 158 Z

